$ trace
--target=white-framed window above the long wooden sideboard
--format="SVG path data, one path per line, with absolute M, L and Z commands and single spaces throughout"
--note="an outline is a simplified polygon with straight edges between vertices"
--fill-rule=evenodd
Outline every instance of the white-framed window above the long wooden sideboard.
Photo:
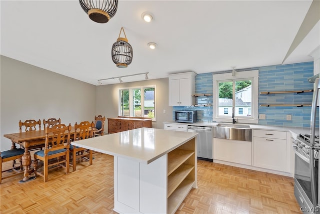
M 155 120 L 155 86 L 119 89 L 118 115 Z

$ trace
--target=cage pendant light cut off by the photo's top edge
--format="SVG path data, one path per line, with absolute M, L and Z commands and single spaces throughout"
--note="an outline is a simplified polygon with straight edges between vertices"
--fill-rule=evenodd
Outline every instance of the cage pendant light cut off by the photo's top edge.
M 89 18 L 97 23 L 107 23 L 116 13 L 118 0 L 79 0 Z

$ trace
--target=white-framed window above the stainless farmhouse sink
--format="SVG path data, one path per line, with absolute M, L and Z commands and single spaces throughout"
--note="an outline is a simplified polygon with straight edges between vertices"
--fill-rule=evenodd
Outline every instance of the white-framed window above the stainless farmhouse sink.
M 213 120 L 258 123 L 258 70 L 213 74 Z

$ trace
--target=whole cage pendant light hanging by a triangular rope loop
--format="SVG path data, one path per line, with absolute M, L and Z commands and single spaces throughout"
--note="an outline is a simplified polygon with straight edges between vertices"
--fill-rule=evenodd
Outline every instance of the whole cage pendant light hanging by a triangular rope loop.
M 120 37 L 121 31 L 123 31 L 124 37 Z M 131 45 L 126 39 L 123 28 L 121 28 L 119 37 L 112 45 L 111 57 L 112 61 L 118 68 L 126 68 L 132 62 L 133 51 Z

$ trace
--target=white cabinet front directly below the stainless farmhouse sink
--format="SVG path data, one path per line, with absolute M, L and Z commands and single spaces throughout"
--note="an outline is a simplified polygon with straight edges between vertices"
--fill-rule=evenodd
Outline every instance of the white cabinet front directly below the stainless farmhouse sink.
M 251 141 L 213 138 L 213 158 L 216 160 L 252 165 Z

